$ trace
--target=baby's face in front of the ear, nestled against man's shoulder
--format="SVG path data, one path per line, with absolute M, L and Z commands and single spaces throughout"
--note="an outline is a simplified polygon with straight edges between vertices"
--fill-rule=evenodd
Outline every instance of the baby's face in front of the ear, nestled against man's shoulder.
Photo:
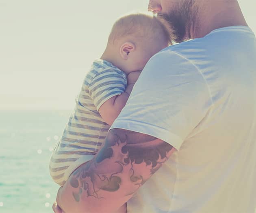
M 131 71 L 141 71 L 144 66 L 148 63 L 153 55 L 168 47 L 167 41 L 152 41 L 149 43 L 141 44 L 132 54 L 132 60 L 130 64 Z

